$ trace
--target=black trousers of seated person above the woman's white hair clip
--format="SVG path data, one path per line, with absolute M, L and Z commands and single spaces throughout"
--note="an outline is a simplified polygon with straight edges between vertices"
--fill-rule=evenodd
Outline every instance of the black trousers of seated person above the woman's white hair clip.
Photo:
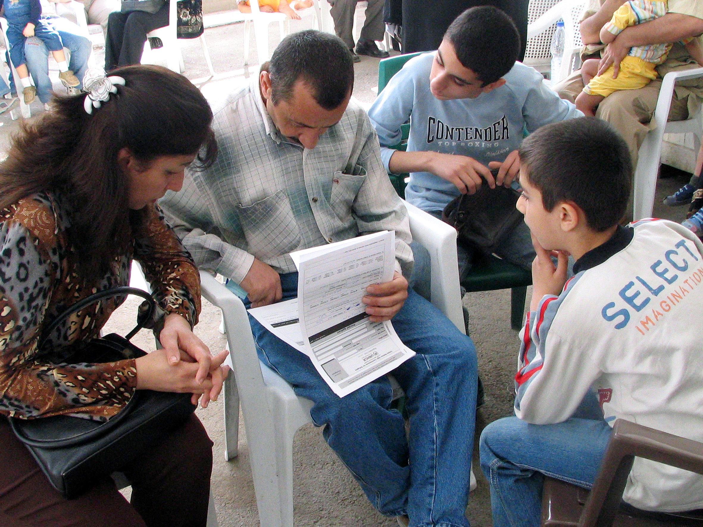
M 176 1 L 176 0 L 173 0 Z M 141 62 L 146 34 L 169 25 L 169 3 L 156 13 L 130 11 L 110 13 L 105 37 L 105 71 Z

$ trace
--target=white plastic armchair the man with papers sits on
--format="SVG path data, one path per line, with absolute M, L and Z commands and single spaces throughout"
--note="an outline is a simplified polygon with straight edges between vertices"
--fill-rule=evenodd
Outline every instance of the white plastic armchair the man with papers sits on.
M 432 303 L 464 332 L 456 266 L 456 230 L 406 203 L 413 240 L 430 252 Z M 200 272 L 202 296 L 221 308 L 233 375 L 224 386 L 225 458 L 237 455 L 239 405 L 257 497 L 259 521 L 266 527 L 293 525 L 293 437 L 311 422 L 312 402 L 259 361 L 242 301 L 207 272 Z M 472 488 L 476 480 L 471 474 Z

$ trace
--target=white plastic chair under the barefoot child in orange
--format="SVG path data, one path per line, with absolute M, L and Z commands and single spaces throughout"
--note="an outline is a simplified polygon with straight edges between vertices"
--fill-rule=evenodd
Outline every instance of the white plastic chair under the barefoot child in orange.
M 296 11 L 301 19 L 310 16 L 313 17 L 314 29 L 321 27 L 322 13 L 320 11 L 320 1 L 325 0 L 313 0 L 312 7 L 303 9 L 302 11 Z M 249 41 L 253 25 L 254 40 L 257 43 L 257 58 L 259 64 L 263 64 L 266 60 L 271 58 L 271 54 L 273 53 L 269 46 L 269 24 L 278 22 L 280 39 L 283 39 L 283 37 L 290 33 L 290 19 L 283 13 L 262 13 L 262 11 L 259 10 L 259 2 L 257 0 L 250 0 L 249 5 L 252 8 L 252 12 L 242 13 L 244 19 L 244 63 L 249 64 Z

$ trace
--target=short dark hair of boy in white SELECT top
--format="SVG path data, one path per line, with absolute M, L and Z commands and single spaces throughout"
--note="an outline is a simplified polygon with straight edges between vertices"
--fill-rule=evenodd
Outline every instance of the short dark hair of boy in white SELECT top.
M 548 211 L 574 202 L 596 232 L 623 218 L 632 161 L 624 139 L 607 122 L 582 117 L 542 126 L 522 141 L 520 163 Z

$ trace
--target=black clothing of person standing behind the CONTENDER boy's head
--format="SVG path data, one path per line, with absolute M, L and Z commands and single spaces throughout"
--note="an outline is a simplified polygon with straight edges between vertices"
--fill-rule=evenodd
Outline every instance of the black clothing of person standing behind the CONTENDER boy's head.
M 431 5 L 430 5 L 431 4 Z M 528 0 L 403 0 L 403 53 L 439 48 L 444 32 L 458 15 L 470 7 L 494 6 L 512 18 L 520 33 L 520 55 L 525 55 Z

